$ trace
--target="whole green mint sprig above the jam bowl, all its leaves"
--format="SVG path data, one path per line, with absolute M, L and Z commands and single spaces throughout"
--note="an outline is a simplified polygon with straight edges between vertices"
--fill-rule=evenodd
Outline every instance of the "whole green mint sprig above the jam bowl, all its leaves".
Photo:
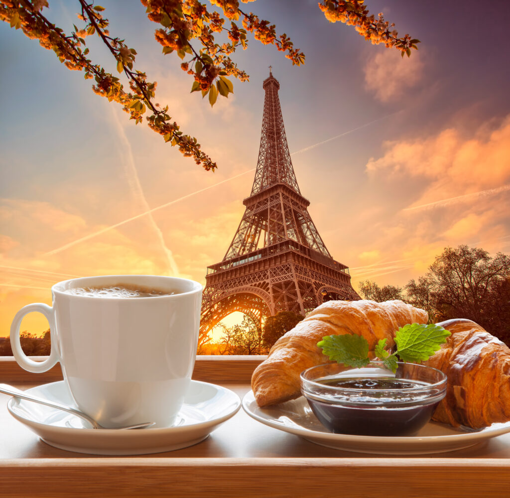
M 397 350 L 386 350 L 386 339 L 379 339 L 374 353 L 393 373 L 397 370 L 397 356 L 404 362 L 426 361 L 446 341 L 450 332 L 436 324 L 409 323 L 395 333 Z M 354 368 L 362 368 L 370 363 L 368 341 L 356 334 L 326 335 L 317 343 L 330 360 L 344 363 Z

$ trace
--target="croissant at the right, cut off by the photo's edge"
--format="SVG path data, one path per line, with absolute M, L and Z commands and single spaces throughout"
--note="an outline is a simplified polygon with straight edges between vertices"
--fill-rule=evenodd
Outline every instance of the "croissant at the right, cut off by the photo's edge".
M 451 335 L 424 364 L 444 372 L 448 386 L 432 420 L 476 429 L 509 421 L 510 349 L 471 320 L 438 325 Z

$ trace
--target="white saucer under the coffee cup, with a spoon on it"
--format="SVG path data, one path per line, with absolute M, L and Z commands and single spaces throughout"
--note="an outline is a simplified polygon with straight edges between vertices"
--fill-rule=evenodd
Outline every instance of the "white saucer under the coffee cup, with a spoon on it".
M 44 384 L 27 392 L 75 406 L 64 381 Z M 30 401 L 11 398 L 10 413 L 44 442 L 62 450 L 95 455 L 142 455 L 179 450 L 205 439 L 240 408 L 230 389 L 191 381 L 177 424 L 168 428 L 132 430 L 92 429 L 81 418 Z

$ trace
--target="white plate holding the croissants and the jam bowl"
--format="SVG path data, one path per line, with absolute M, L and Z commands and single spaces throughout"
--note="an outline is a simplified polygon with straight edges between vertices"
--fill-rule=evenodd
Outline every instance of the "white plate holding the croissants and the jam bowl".
M 268 408 L 259 408 L 253 391 L 243 398 L 244 411 L 269 427 L 296 434 L 328 448 L 387 455 L 423 455 L 468 448 L 473 444 L 510 432 L 510 422 L 493 424 L 476 432 L 449 425 L 428 423 L 416 436 L 380 437 L 334 434 L 317 420 L 307 400 L 300 397 Z

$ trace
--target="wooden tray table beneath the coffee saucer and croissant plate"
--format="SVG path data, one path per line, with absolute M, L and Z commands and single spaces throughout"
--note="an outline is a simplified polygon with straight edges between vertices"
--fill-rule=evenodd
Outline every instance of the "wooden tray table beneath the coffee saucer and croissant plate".
M 193 378 L 242 397 L 261 358 L 199 356 Z M 0 382 L 28 388 L 61 379 L 58 366 L 31 374 L 0 357 Z M 0 496 L 9 498 L 510 496 L 510 434 L 465 450 L 395 458 L 321 447 L 241 409 L 193 447 L 112 458 L 50 447 L 9 414 L 7 401 L 0 394 Z

